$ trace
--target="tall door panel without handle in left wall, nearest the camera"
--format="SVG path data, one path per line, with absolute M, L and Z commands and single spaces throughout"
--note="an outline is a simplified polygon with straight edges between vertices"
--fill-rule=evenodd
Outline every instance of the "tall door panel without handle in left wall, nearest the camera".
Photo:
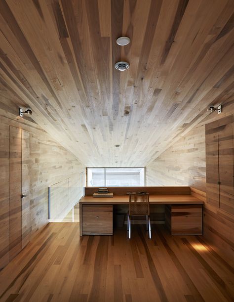
M 21 251 L 21 129 L 10 127 L 10 260 Z

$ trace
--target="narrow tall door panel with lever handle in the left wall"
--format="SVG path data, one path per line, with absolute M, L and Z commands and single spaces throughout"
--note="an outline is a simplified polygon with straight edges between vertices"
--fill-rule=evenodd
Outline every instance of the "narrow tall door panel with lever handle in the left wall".
M 22 249 L 30 241 L 29 132 L 22 129 Z M 25 196 L 26 195 L 26 196 Z

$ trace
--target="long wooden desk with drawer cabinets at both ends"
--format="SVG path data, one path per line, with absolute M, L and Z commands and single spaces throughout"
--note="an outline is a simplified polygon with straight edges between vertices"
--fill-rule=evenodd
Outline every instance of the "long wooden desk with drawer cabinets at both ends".
M 112 235 L 113 205 L 128 205 L 129 195 L 84 196 L 79 201 L 80 236 Z M 150 204 L 166 205 L 165 223 L 172 234 L 202 234 L 203 201 L 192 195 L 150 195 Z

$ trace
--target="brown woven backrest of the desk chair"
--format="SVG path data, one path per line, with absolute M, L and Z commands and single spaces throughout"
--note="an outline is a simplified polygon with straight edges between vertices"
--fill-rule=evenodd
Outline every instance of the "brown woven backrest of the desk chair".
M 150 194 L 129 195 L 129 215 L 150 215 Z

